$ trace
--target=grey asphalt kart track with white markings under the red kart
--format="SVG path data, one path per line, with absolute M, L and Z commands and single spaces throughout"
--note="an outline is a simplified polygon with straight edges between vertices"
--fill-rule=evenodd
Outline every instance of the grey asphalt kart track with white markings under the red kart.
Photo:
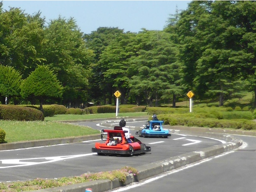
M 99 121 L 80 123 L 101 129 Z M 143 121 L 144 123 L 144 121 Z M 142 122 L 133 122 L 140 126 Z M 128 125 L 129 123 L 127 123 Z M 135 134 L 135 130 L 132 131 Z M 86 172 L 119 169 L 123 166 L 136 167 L 179 154 L 187 153 L 221 142 L 195 136 L 172 135 L 170 138 L 139 138 L 152 147 L 151 153 L 133 157 L 98 156 L 91 152 L 96 141 L 71 143 L 23 150 L 0 151 L 0 182 L 78 176 Z

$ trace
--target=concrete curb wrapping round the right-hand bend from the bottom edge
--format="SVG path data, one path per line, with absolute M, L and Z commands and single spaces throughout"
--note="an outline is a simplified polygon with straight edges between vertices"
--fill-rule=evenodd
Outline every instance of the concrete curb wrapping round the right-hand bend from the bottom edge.
M 194 136 L 202 136 L 202 137 L 211 137 L 216 139 L 225 140 L 227 143 L 221 145 L 214 145 L 209 148 L 204 148 L 199 151 L 193 151 L 189 153 L 185 153 L 182 155 L 178 155 L 175 157 L 167 158 L 162 161 L 157 161 L 154 163 L 150 163 L 147 165 L 140 165 L 135 167 L 139 174 L 127 174 L 127 180 L 125 185 L 129 185 L 132 182 L 137 182 L 139 180 L 144 180 L 149 177 L 153 177 L 155 175 L 162 174 L 167 171 L 174 170 L 176 168 L 182 167 L 184 165 L 188 165 L 221 153 L 228 152 L 230 150 L 234 150 L 239 148 L 242 145 L 242 141 L 236 139 L 231 135 L 226 135 L 223 133 L 210 133 L 209 130 L 200 132 L 200 128 L 187 128 L 187 127 L 180 127 L 180 126 L 169 126 L 167 127 L 171 129 L 171 133 L 176 134 L 191 134 Z M 204 129 L 204 128 L 202 128 Z M 122 187 L 122 183 L 119 180 L 115 179 L 111 180 L 97 180 L 97 181 L 90 181 L 85 183 L 80 183 L 76 185 L 68 185 L 62 187 L 56 187 L 51 189 L 44 189 L 44 190 L 36 190 L 34 192 L 85 192 L 86 188 L 91 188 L 92 192 L 104 192 L 107 190 L 113 190 L 118 187 Z

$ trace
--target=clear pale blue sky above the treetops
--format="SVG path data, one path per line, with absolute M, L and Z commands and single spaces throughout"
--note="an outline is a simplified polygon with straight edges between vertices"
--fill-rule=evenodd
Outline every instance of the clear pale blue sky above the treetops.
M 163 30 L 170 14 L 178 10 L 186 10 L 191 1 L 177 0 L 3 0 L 3 9 L 18 7 L 32 15 L 40 11 L 46 22 L 64 17 L 73 17 L 84 33 L 96 31 L 98 27 L 118 27 L 124 32 L 147 30 Z

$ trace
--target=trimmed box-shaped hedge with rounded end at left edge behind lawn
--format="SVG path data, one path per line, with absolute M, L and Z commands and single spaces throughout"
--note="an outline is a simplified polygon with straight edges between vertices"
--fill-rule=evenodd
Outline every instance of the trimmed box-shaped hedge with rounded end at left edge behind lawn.
M 0 105 L 0 119 L 14 121 L 44 121 L 41 111 L 22 106 Z

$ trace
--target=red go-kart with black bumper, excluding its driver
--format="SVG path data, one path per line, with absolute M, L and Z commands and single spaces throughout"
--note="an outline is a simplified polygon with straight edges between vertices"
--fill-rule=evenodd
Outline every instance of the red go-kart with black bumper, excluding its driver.
M 98 155 L 119 154 L 132 156 L 151 151 L 150 147 L 147 147 L 134 136 L 127 138 L 125 133 L 127 133 L 127 130 L 123 130 L 119 126 L 115 126 L 114 130 L 102 129 L 101 138 L 106 142 L 95 143 L 95 148 L 92 148 L 92 152 L 96 152 Z

